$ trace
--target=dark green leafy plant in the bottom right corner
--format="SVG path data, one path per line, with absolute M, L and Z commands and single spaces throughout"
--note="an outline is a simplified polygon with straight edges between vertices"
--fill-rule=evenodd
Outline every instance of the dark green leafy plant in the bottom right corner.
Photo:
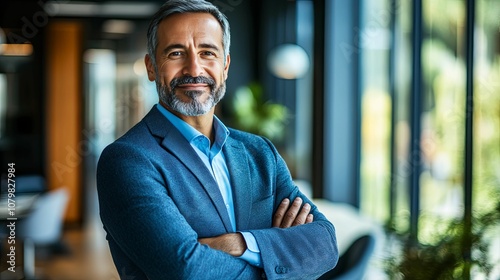
M 392 252 L 385 260 L 385 271 L 390 279 L 464 279 L 466 266 L 489 276 L 494 267 L 490 259 L 491 238 L 498 238 L 500 230 L 500 199 L 490 211 L 473 217 L 472 231 L 466 232 L 463 220 L 453 220 L 435 244 L 410 244 L 408 235 L 397 234 L 399 252 Z M 493 236 L 491 236 L 493 235 Z M 472 255 L 464 257 L 464 242 L 470 242 Z

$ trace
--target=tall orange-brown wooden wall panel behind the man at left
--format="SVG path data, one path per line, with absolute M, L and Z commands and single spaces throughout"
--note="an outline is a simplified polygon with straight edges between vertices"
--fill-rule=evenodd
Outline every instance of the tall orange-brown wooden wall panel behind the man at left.
M 47 184 L 68 189 L 65 221 L 81 222 L 83 27 L 51 21 L 46 34 Z

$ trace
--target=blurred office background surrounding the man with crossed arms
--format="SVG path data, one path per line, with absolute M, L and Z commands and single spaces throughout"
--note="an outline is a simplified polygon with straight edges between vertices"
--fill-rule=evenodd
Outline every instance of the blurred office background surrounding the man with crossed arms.
M 232 35 L 217 115 L 270 138 L 342 236 L 342 213 L 373 230 L 366 279 L 500 279 L 500 1 L 211 2 Z M 32 205 L 67 194 L 58 246 L 34 244 L 40 277 L 118 279 L 95 168 L 158 101 L 143 61 L 161 4 L 0 2 L 2 200 L 10 163 Z M 22 279 L 4 248 L 1 276 Z

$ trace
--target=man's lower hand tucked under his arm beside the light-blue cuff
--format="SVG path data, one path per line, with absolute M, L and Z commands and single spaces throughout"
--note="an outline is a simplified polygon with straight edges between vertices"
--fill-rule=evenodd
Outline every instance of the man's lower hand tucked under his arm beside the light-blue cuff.
M 227 233 L 216 237 L 200 238 L 198 242 L 210 248 L 226 252 L 234 257 L 243 255 L 247 249 L 245 238 L 241 233 Z

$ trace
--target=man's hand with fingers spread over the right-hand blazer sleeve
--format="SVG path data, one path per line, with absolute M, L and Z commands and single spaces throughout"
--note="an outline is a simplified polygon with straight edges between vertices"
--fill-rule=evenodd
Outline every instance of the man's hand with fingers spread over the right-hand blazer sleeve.
M 292 205 L 290 205 L 290 200 L 285 198 L 274 213 L 273 227 L 288 228 L 308 224 L 314 219 L 313 215 L 309 214 L 310 211 L 309 203 L 302 206 L 302 198 L 295 198 Z

